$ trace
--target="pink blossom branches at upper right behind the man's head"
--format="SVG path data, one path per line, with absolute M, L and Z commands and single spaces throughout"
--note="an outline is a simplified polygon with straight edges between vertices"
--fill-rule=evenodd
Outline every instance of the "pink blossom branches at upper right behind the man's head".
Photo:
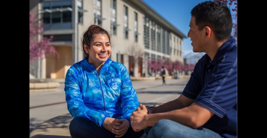
M 230 6 L 235 5 L 235 8 L 232 9 L 234 13 L 233 15 L 233 36 L 236 40 L 236 43 L 237 43 L 237 0 L 214 0 L 214 1 L 218 1 L 218 2 L 222 2 L 222 3 L 225 3 L 226 5 L 229 5 L 229 9 L 230 9 Z

